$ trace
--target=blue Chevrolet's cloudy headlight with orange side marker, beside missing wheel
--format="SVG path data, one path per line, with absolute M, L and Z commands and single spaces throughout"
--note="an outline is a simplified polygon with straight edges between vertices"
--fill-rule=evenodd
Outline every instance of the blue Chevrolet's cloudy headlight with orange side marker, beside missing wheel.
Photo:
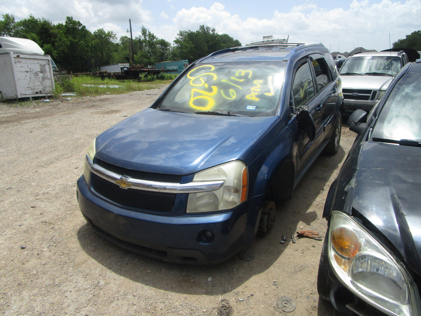
M 248 174 L 242 161 L 232 161 L 200 171 L 192 182 L 223 180 L 224 184 L 209 192 L 190 193 L 187 213 L 213 212 L 232 209 L 247 197 Z

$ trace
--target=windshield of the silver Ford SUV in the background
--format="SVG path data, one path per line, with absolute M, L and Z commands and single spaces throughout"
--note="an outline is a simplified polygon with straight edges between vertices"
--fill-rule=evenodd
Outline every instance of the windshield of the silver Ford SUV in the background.
M 342 65 L 340 75 L 391 75 L 402 68 L 397 56 L 355 56 Z

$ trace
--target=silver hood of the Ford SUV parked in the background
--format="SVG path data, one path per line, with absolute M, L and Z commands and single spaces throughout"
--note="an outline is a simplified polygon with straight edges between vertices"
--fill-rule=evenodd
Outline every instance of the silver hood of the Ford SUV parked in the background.
M 341 75 L 343 89 L 386 90 L 392 82 L 390 76 Z

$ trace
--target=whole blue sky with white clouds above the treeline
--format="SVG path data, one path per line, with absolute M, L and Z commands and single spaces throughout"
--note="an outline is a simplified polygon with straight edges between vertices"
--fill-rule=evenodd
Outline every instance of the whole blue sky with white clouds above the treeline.
M 331 51 L 356 47 L 389 48 L 390 42 L 421 29 L 421 0 L 0 0 L 0 15 L 15 20 L 45 18 L 64 23 L 66 16 L 79 20 L 91 32 L 103 28 L 133 37 L 143 25 L 173 44 L 179 30 L 205 24 L 226 33 L 242 45 L 263 35 L 289 36 L 290 43 L 322 42 Z

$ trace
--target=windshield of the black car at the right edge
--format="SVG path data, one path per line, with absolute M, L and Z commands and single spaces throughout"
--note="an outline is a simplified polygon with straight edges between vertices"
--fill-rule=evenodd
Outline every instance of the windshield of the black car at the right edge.
M 374 126 L 372 139 L 398 143 L 421 141 L 421 74 L 404 75 L 384 104 Z M 407 142 L 406 142 L 407 143 Z

